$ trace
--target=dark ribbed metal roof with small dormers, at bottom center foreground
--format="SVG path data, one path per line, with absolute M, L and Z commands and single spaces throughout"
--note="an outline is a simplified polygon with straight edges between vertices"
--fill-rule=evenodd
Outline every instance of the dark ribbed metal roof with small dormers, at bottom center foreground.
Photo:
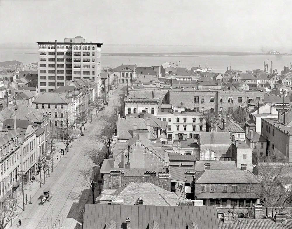
M 126 229 L 126 218 L 131 228 L 146 229 L 156 221 L 159 228 L 186 229 L 192 220 L 201 229 L 219 229 L 215 206 L 138 206 L 86 204 L 83 229 L 104 229 L 111 219 L 115 229 Z M 93 226 L 94 225 L 94 226 Z

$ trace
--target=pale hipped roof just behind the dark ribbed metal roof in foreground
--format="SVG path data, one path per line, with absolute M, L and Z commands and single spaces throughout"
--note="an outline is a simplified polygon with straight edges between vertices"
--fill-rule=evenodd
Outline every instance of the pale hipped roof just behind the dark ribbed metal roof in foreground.
M 183 198 L 150 182 L 129 182 L 119 187 L 112 196 L 112 200 L 122 200 L 125 205 L 134 205 L 140 197 L 143 205 L 152 206 L 176 206 Z M 103 199 L 105 198 L 102 196 L 100 200 Z

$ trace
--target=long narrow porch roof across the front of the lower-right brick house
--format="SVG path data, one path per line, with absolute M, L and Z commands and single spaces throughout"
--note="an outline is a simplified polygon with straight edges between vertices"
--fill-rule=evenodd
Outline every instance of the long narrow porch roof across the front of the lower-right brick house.
M 199 193 L 198 199 L 259 199 L 256 193 Z

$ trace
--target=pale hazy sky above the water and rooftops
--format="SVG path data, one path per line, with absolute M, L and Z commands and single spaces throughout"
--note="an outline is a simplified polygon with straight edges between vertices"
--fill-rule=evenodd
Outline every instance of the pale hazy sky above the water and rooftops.
M 292 1 L 0 0 L 0 44 L 82 36 L 107 44 L 292 52 Z

